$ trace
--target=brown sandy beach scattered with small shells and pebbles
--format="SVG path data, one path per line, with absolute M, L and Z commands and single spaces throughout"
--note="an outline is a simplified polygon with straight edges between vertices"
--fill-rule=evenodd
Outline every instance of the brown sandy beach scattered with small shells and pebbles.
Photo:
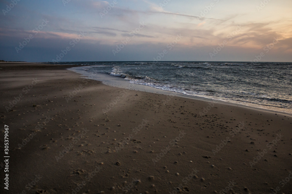
M 292 193 L 289 115 L 0 67 L 1 193 Z

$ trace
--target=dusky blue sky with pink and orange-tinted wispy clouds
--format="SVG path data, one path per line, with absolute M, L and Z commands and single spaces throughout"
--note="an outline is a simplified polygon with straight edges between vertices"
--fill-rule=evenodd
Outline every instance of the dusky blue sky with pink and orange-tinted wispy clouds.
M 0 60 L 292 62 L 291 0 L 0 0 Z

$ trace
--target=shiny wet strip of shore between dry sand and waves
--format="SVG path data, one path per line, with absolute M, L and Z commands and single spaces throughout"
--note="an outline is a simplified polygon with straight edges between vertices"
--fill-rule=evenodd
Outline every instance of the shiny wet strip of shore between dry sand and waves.
M 92 66 L 92 65 L 88 65 Z M 80 66 L 77 66 L 77 68 L 81 68 Z M 83 66 L 82 66 L 83 67 Z M 130 82 L 126 81 L 124 78 L 119 77 L 119 76 L 111 76 L 108 74 L 102 74 L 102 73 L 89 73 L 83 70 L 77 70 L 76 67 L 70 67 L 67 70 L 71 70 L 73 72 L 79 73 L 82 75 L 82 78 L 85 79 L 93 79 L 97 81 L 101 81 L 103 84 L 108 85 L 108 86 L 113 86 L 113 87 L 118 87 L 118 88 L 128 88 Z M 157 93 L 157 94 L 163 94 L 163 95 L 169 95 L 169 96 L 176 96 L 176 97 L 183 97 L 183 98 L 188 98 L 188 99 L 196 99 L 196 100 L 202 100 L 205 102 L 215 102 L 219 104 L 225 104 L 225 105 L 231 105 L 231 106 L 238 106 L 238 107 L 243 107 L 243 108 L 250 108 L 253 110 L 259 110 L 259 111 L 267 111 L 271 113 L 278 113 L 278 114 L 283 114 L 283 115 L 288 115 L 292 116 L 292 113 L 288 112 L 282 112 L 282 111 L 275 111 L 267 108 L 260 108 L 260 107 L 255 107 L 255 106 L 249 106 L 249 104 L 253 103 L 248 103 L 248 105 L 245 104 L 239 104 L 236 102 L 227 102 L 224 100 L 220 99 L 212 99 L 212 98 L 207 98 L 207 97 L 200 97 L 200 96 L 191 96 L 191 95 L 186 95 L 180 92 L 173 92 L 169 90 L 163 90 L 160 88 L 155 88 L 151 86 L 146 86 L 142 84 L 137 84 L 137 83 L 131 83 L 131 89 L 132 90 L 138 90 L 138 91 L 144 91 L 144 92 L 151 92 L 151 93 Z M 264 106 L 264 105 L 261 105 Z

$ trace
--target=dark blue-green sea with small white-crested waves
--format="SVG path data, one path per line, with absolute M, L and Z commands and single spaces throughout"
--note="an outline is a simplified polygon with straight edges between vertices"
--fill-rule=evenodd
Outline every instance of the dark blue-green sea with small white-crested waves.
M 118 76 L 130 83 L 188 96 L 292 113 L 292 63 L 124 61 L 57 64 L 80 65 L 79 69 L 89 73 Z

